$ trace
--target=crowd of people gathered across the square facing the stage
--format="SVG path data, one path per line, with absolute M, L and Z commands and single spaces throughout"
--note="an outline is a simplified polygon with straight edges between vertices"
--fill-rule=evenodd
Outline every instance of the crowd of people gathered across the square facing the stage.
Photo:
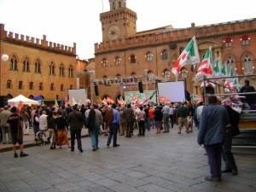
M 3 144 L 12 143 L 14 157 L 17 158 L 16 143 L 20 145 L 20 157 L 28 154 L 23 152 L 23 136 L 28 135 L 28 129 L 33 128 L 34 136 L 38 131 L 49 131 L 50 149 L 77 148 L 82 153 L 82 128 L 87 128 L 92 151 L 99 148 L 99 135 L 108 137 L 107 147 L 111 143 L 113 148 L 119 147 L 118 134 L 124 137 L 145 137 L 146 131 L 155 130 L 155 134 L 168 133 L 174 125 L 178 125 L 177 134 L 192 133 L 194 127 L 199 129 L 197 143 L 202 145 L 208 157 L 211 176 L 207 181 L 218 182 L 222 172 L 237 174 L 237 166 L 231 152 L 234 130 L 239 134 L 239 113 L 229 105 L 221 103 L 217 96 L 208 96 L 207 105 L 203 102 L 158 104 L 148 103 L 137 108 L 127 104 L 118 106 L 96 103 L 89 106 L 74 105 L 60 108 L 49 106 L 25 106 L 20 112 L 16 107 L 5 106 L 0 109 L 1 135 Z M 67 133 L 70 131 L 71 142 Z M 238 133 L 237 133 L 238 131 Z M 113 142 L 112 142 L 113 141 Z M 225 162 L 225 169 L 221 171 L 221 161 Z

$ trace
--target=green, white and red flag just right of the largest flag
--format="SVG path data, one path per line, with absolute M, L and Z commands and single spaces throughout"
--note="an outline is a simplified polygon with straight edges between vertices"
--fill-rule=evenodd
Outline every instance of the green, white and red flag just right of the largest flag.
M 207 50 L 206 55 L 204 55 L 203 60 L 201 61 L 201 65 L 195 75 L 195 82 L 203 79 L 204 76 L 211 77 L 212 76 L 212 48 L 210 47 Z

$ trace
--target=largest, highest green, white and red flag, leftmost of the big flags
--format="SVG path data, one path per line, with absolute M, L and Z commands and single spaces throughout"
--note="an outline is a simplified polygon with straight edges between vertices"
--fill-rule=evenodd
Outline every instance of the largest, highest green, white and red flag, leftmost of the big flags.
M 186 46 L 185 49 L 183 49 L 183 52 L 179 57 L 177 58 L 177 61 L 175 62 L 174 66 L 172 67 L 172 73 L 175 75 L 176 79 L 178 77 L 178 73 L 181 69 L 181 67 L 190 64 L 194 65 L 197 62 L 200 62 L 200 56 L 198 52 L 198 47 L 196 44 L 195 37 L 193 37 L 189 44 Z

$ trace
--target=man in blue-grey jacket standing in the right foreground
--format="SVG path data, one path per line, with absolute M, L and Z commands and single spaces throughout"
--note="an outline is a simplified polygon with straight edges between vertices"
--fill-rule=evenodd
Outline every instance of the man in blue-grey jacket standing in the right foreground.
M 205 180 L 221 181 L 221 149 L 224 143 L 224 130 L 230 119 L 227 109 L 218 105 L 216 96 L 208 97 L 208 105 L 203 108 L 197 143 L 207 151 L 211 176 Z

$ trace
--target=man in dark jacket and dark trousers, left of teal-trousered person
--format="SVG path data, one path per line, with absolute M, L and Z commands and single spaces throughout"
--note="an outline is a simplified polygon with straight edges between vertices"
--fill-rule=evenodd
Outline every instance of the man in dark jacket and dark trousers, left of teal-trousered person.
M 79 112 L 77 106 L 73 106 L 73 112 L 67 116 L 67 122 L 70 125 L 70 137 L 71 137 L 71 151 L 74 151 L 75 137 L 78 141 L 79 151 L 82 153 L 81 131 L 84 125 L 84 118 L 82 113 Z

